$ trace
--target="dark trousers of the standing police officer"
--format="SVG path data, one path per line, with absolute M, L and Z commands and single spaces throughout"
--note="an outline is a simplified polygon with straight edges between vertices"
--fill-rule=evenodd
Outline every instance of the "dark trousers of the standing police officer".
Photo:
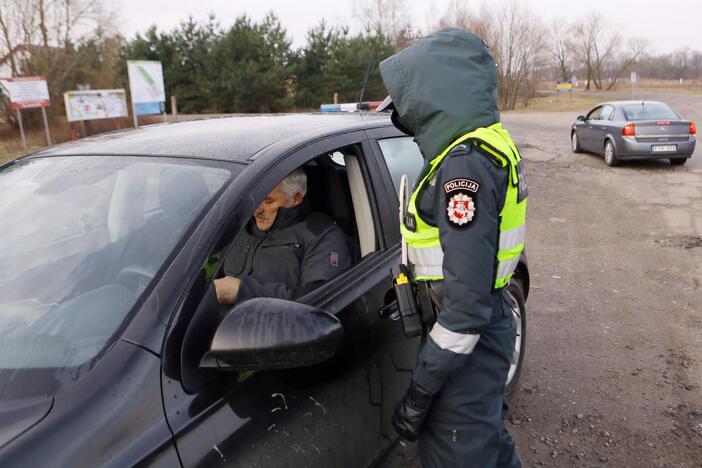
M 505 381 L 516 326 L 505 292 L 466 366 L 447 380 L 419 434 L 423 468 L 521 467 L 505 429 Z

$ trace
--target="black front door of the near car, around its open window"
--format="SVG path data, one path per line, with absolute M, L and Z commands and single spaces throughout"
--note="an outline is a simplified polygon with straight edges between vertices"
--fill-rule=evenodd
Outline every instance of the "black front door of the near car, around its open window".
M 309 368 L 200 370 L 199 360 L 218 323 L 207 314 L 212 301 L 210 254 L 230 242 L 257 202 L 286 174 L 340 148 L 347 156 L 351 192 L 357 194 L 355 213 L 365 217 L 357 220 L 363 225 L 359 233 L 365 232 L 362 257 L 299 301 L 341 320 L 342 349 L 329 362 Z M 381 321 L 379 315 L 391 289 L 388 273 L 398 256 L 388 235 L 394 227 L 390 207 L 382 201 L 384 181 L 362 131 L 316 141 L 290 154 L 270 153 L 242 174 L 248 193 L 242 189 L 223 201 L 230 208 L 218 208 L 223 213 L 220 225 L 206 227 L 218 233 L 212 252 L 193 259 L 196 268 L 205 266 L 185 294 L 164 344 L 166 417 L 185 466 L 367 466 L 394 440 L 382 369 L 389 343 L 401 333 L 398 323 Z M 396 385 L 406 386 L 409 375 L 404 375 L 405 382 Z

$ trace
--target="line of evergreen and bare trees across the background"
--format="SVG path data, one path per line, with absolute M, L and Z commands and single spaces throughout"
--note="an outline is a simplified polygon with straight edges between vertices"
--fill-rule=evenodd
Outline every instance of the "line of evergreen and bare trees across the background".
M 378 63 L 446 26 L 475 31 L 491 48 L 503 109 L 534 96 L 545 80 L 577 78 L 585 89 L 606 90 L 630 71 L 644 79 L 702 78 L 702 53 L 651 54 L 645 39 L 623 38 L 598 13 L 546 21 L 526 1 L 470 8 L 452 0 L 419 28 L 406 1 L 352 3 L 354 27 L 321 20 L 295 47 L 273 12 L 260 20 L 242 14 L 228 25 L 214 15 L 190 17 L 171 30 L 152 26 L 125 38 L 105 0 L 0 0 L 0 66 L 5 75 L 46 76 L 54 115 L 63 113 L 64 91 L 128 88 L 126 61 L 139 59 L 162 63 L 167 108 L 176 96 L 181 113 L 314 110 L 335 95 L 379 100 L 386 91 Z

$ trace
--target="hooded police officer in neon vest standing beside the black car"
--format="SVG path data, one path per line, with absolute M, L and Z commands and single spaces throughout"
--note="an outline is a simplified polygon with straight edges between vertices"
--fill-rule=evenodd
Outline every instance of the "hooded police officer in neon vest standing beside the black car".
M 516 333 L 505 286 L 524 249 L 527 186 L 500 123 L 495 62 L 479 37 L 444 29 L 380 72 L 380 110 L 394 109 L 427 162 L 401 230 L 438 310 L 393 425 L 419 439 L 424 467 L 521 466 L 503 421 Z

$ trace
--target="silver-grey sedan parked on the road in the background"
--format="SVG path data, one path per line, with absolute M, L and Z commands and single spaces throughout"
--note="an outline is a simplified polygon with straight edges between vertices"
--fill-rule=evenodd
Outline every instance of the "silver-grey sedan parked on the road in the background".
M 658 101 L 604 102 L 578 116 L 570 130 L 574 153 L 601 154 L 609 166 L 627 159 L 685 164 L 695 151 L 695 123 Z

